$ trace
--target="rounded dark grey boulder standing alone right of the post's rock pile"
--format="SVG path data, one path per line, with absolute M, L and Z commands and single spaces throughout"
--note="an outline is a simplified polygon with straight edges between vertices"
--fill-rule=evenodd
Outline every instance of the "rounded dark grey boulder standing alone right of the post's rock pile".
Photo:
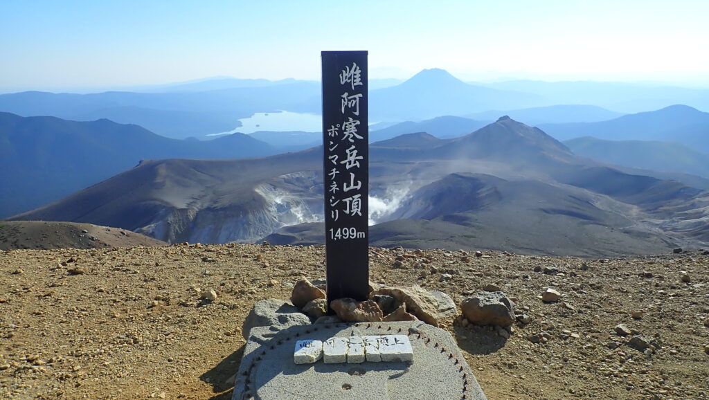
M 478 325 L 510 326 L 515 323 L 515 304 L 501 291 L 481 291 L 460 305 L 463 316 Z

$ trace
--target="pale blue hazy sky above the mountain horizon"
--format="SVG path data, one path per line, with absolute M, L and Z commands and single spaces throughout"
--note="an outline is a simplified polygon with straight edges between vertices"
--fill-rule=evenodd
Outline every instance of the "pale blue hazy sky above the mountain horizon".
M 318 79 L 320 50 L 371 77 L 709 83 L 709 1 L 0 1 L 0 90 L 214 76 Z

